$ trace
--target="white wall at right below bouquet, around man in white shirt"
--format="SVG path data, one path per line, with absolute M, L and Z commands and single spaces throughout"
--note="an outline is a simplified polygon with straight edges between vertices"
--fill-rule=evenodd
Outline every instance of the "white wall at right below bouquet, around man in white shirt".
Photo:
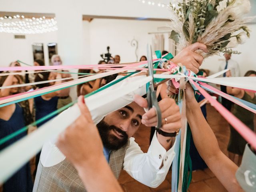
M 234 50 L 237 50 L 242 54 L 233 54 L 231 57 L 239 64 L 240 76 L 244 76 L 248 70 L 256 70 L 256 24 L 249 25 L 249 28 L 252 30 L 250 39 L 248 39 L 245 44 L 238 45 L 237 48 L 234 48 Z M 224 60 L 222 54 L 221 56 L 212 56 L 203 62 L 201 68 L 209 69 L 211 74 L 218 72 L 222 59 Z

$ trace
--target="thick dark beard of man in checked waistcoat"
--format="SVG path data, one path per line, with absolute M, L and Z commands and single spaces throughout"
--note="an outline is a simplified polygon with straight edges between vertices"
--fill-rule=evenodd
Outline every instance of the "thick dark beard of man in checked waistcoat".
M 128 135 L 125 131 L 117 128 L 114 125 L 108 125 L 104 121 L 104 119 L 97 124 L 97 128 L 100 133 L 100 137 L 102 139 L 104 147 L 108 148 L 109 150 L 118 150 L 128 141 Z M 121 133 L 123 137 L 121 139 L 116 137 L 115 135 L 110 133 L 111 130 Z

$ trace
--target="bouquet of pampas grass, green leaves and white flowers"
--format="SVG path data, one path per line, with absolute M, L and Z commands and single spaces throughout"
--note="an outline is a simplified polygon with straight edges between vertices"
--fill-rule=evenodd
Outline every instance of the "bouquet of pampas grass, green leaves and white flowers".
M 239 54 L 230 48 L 250 37 L 246 23 L 254 17 L 243 17 L 250 11 L 249 0 L 171 0 L 170 38 L 180 51 L 190 44 L 206 44 L 204 58 L 220 52 Z M 229 49 L 229 50 L 227 50 Z

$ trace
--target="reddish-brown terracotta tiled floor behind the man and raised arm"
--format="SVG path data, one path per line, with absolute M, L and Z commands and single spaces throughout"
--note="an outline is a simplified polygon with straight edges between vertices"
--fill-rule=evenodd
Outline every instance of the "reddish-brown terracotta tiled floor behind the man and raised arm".
M 224 154 L 227 153 L 227 145 L 230 135 L 228 123 L 210 105 L 207 105 L 207 120 L 214 134 L 217 137 L 220 149 Z M 140 127 L 134 135 L 136 142 L 141 146 L 143 152 L 147 152 L 149 147 L 150 129 Z M 171 191 L 171 172 L 168 173 L 164 182 L 158 188 L 149 188 L 133 178 L 125 171 L 122 171 L 119 183 L 125 192 L 170 192 Z M 189 187 L 190 192 L 226 192 L 226 189 L 214 176 L 209 168 L 192 172 L 192 182 Z

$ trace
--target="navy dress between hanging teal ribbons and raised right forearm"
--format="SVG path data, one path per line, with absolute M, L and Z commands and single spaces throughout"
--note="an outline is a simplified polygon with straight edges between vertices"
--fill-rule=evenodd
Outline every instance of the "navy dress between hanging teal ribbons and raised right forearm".
M 200 102 L 202 100 L 204 100 L 204 96 L 201 94 L 198 98 L 198 102 Z M 204 115 L 204 118 L 206 119 L 206 115 L 207 115 L 206 114 L 206 104 L 201 107 L 201 110 L 202 110 L 202 114 Z M 190 153 L 190 158 L 192 160 L 192 170 L 198 170 L 198 169 L 203 170 L 203 169 L 207 168 L 206 163 L 204 162 L 204 160 L 202 159 L 202 157 L 200 156 L 200 154 L 198 153 L 198 151 L 196 149 L 192 135 L 190 138 L 189 153 Z

